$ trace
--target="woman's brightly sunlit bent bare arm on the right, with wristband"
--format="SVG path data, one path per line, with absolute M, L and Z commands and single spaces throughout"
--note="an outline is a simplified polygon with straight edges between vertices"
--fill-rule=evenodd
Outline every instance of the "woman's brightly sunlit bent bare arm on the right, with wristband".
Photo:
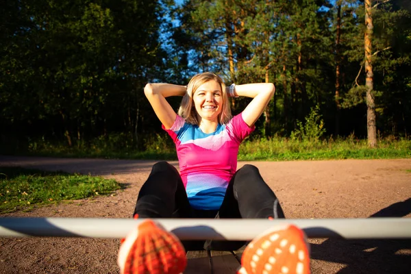
M 229 88 L 229 87 L 227 87 Z M 272 83 L 244 84 L 236 86 L 238 96 L 251 97 L 253 100 L 242 111 L 242 119 L 251 127 L 273 98 L 275 86 Z

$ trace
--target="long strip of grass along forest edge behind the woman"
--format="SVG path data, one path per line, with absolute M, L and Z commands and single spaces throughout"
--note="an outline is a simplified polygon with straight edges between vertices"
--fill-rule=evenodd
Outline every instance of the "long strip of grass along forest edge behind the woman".
M 129 137 L 129 138 L 127 138 Z M 130 139 L 132 136 L 107 136 L 68 147 L 64 142 L 32 141 L 22 155 L 41 155 L 69 158 L 114 158 L 140 160 L 177 160 L 175 147 L 166 134 L 140 138 L 140 149 Z M 340 160 L 340 159 L 390 159 L 411 158 L 409 138 L 379 138 L 377 148 L 370 149 L 367 140 L 325 138 L 299 140 L 273 137 L 245 140 L 240 145 L 239 160 Z

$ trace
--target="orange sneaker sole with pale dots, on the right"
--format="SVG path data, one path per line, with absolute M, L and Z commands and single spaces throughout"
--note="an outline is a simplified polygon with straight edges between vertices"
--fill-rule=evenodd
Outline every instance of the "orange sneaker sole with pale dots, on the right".
M 295 225 L 273 227 L 252 240 L 237 274 L 309 274 L 310 255 L 304 232 Z

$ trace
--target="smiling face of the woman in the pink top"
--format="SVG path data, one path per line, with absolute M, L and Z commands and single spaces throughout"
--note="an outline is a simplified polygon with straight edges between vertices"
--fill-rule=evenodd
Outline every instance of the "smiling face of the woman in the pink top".
M 192 101 L 199 118 L 219 122 L 219 114 L 223 110 L 223 94 L 219 82 L 210 80 L 199 86 L 192 95 Z

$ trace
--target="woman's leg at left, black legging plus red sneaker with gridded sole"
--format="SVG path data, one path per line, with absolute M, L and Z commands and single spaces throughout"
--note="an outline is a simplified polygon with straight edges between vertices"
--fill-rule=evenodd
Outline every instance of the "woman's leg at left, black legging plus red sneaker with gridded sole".
M 138 195 L 134 217 L 147 218 L 129 232 L 119 249 L 121 274 L 182 273 L 186 267 L 184 245 L 149 218 L 190 217 L 192 209 L 177 169 L 167 162 L 154 164 Z M 188 242 L 189 243 L 189 242 Z

